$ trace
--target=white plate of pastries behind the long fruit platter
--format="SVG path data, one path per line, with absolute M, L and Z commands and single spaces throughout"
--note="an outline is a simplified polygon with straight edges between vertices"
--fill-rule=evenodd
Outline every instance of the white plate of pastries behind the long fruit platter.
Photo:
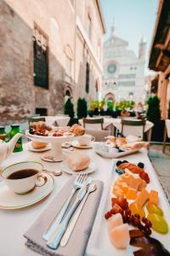
M 105 143 L 94 143 L 94 151 L 105 158 L 119 158 L 127 154 L 134 154 L 140 148 L 148 146 L 139 137 L 105 137 Z

